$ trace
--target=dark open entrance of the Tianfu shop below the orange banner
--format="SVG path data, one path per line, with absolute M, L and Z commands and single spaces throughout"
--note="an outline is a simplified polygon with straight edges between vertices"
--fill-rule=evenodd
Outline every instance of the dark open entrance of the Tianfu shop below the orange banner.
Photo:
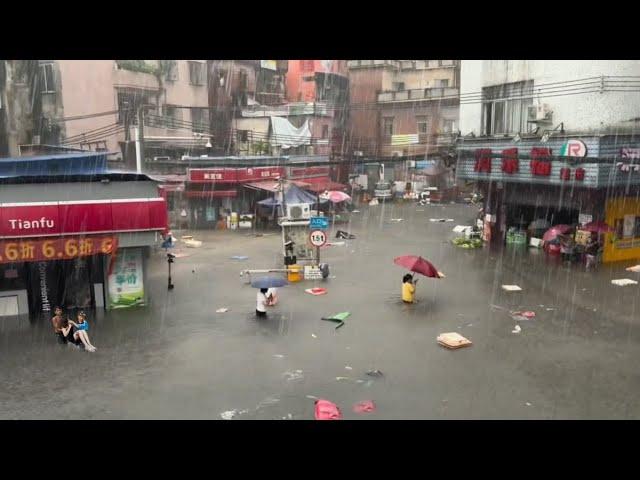
M 95 283 L 104 283 L 103 255 L 27 263 L 29 312 L 34 316 L 96 306 Z

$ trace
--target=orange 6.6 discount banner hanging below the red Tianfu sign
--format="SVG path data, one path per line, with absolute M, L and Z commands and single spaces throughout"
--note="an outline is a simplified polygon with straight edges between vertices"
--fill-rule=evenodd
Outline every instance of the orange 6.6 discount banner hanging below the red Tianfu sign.
M 117 249 L 117 237 L 56 238 L 52 240 L 0 241 L 0 264 L 71 260 L 89 255 L 111 254 Z

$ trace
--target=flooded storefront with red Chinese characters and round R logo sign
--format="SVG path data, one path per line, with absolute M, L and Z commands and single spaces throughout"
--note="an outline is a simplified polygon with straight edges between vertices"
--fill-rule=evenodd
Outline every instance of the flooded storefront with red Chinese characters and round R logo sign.
M 475 181 L 484 197 L 480 220 L 485 240 L 504 244 L 537 236 L 545 226 L 606 222 L 617 233 L 605 236 L 603 261 L 640 258 L 640 230 L 635 229 L 640 172 L 634 170 L 634 159 L 622 155 L 627 147 L 615 155 L 606 144 L 612 155 L 598 157 L 604 144 L 595 137 L 531 146 L 476 143 L 483 148 L 460 149 L 458 179 Z

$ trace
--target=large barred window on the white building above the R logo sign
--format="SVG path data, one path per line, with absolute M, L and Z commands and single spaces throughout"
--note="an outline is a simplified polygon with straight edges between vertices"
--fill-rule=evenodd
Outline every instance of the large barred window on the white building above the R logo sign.
M 483 135 L 527 131 L 527 107 L 533 104 L 533 81 L 505 83 L 482 89 Z

